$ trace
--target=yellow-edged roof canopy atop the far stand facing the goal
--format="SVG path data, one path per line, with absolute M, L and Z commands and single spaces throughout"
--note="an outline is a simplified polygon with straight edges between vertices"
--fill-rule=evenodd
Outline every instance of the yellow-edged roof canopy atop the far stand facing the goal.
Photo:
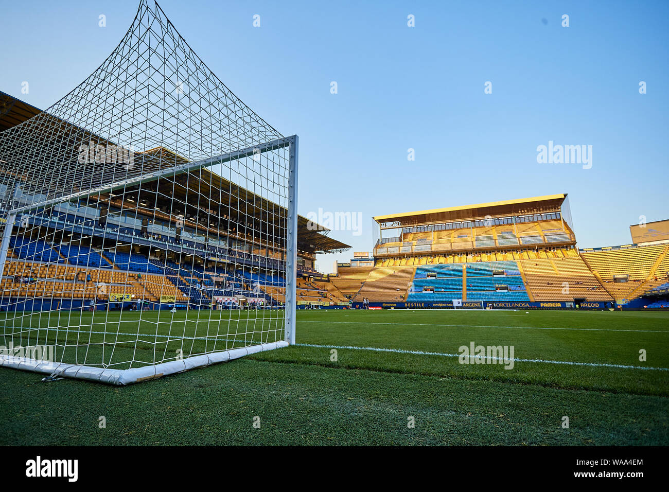
M 490 201 L 475 205 L 436 208 L 419 212 L 375 216 L 379 224 L 399 222 L 401 225 L 431 224 L 434 222 L 455 222 L 475 218 L 514 216 L 518 214 L 537 214 L 559 210 L 567 198 L 567 193 L 514 200 Z

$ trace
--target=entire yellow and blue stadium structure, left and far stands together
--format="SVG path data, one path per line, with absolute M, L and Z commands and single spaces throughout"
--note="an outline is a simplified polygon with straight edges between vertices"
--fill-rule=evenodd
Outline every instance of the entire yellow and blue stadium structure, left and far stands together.
M 0 131 L 40 113 L 0 92 Z M 90 141 L 100 144 L 99 138 Z M 187 163 L 163 147 L 126 159 Z M 203 183 L 225 193 L 208 203 L 202 196 L 211 191 Z M 7 186 L 0 185 L 3 197 L 35 200 L 23 183 Z M 189 193 L 197 193 L 197 204 L 189 204 Z M 183 210 L 173 208 L 174 198 Z M 262 210 L 274 207 L 210 169 L 60 203 L 46 216 L 27 217 L 13 232 L 0 307 L 128 309 L 138 301 L 149 309 L 209 308 L 221 301 L 280 306 L 285 245 L 272 242 L 278 233 L 262 219 Z M 216 214 L 198 220 L 197 210 L 213 208 Z M 237 230 L 246 221 L 240 210 L 256 218 L 243 230 Z M 207 222 L 212 216 L 216 222 Z M 316 254 L 350 246 L 298 218 L 298 308 L 362 307 L 363 299 L 393 308 L 452 308 L 454 299 L 464 307 L 669 307 L 667 221 L 630 226 L 638 243 L 579 249 L 566 193 L 373 219 L 379 240 L 371 254 L 356 253 L 339 263 L 337 274 L 324 276 L 315 269 Z M 58 265 L 46 268 L 50 260 Z M 234 270 L 225 266 L 232 264 Z M 50 285 L 54 280 L 57 286 Z

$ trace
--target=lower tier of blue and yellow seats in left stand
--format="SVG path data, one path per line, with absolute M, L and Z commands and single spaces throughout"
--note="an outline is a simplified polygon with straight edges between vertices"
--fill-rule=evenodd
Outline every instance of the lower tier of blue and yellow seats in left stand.
M 30 241 L 21 236 L 12 238 L 11 244 L 13 249 L 0 280 L 3 295 L 70 301 L 97 299 L 112 304 L 117 304 L 114 299 L 121 295 L 129 296 L 130 303 L 145 300 L 156 305 L 190 303 L 193 307 L 209 307 L 215 296 L 235 297 L 235 305 L 241 304 L 244 298 L 252 302 L 264 299 L 268 305 L 285 301 L 284 279 L 268 272 L 178 264 L 150 259 L 140 252 L 103 252 L 82 244 L 63 243 L 52 247 L 44 241 Z M 49 259 L 58 261 L 58 266 L 53 262 L 41 263 Z M 227 280 L 214 282 L 214 277 L 221 276 Z M 327 286 L 332 286 L 332 290 Z M 128 302 L 127 297 L 123 299 Z M 297 300 L 319 304 L 347 301 L 330 282 L 317 284 L 312 278 L 298 278 Z

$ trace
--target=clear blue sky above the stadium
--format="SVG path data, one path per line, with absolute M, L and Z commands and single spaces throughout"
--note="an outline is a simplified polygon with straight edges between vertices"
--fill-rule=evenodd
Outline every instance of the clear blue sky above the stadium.
M 47 108 L 112 52 L 137 5 L 5 2 L 0 90 Z M 300 214 L 362 214 L 363 234 L 330 233 L 354 250 L 371 250 L 375 215 L 551 193 L 569 193 L 580 247 L 669 218 L 669 2 L 160 5 L 237 96 L 300 136 Z M 549 140 L 592 145 L 592 168 L 538 164 Z

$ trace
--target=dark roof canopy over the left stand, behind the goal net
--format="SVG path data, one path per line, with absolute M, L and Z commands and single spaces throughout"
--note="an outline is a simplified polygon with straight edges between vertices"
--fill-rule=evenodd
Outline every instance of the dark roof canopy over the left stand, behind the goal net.
M 33 116 L 37 116 L 37 114 L 40 114 L 40 117 L 45 120 L 44 125 L 73 127 L 73 125 L 70 125 L 70 123 L 66 122 L 65 120 L 57 118 L 56 116 L 47 116 L 38 108 L 35 108 L 34 106 L 31 106 L 30 104 L 27 104 L 17 98 L 14 98 L 13 96 L 9 96 L 9 94 L 5 94 L 5 92 L 0 92 L 0 131 L 9 129 L 15 125 L 19 125 L 22 122 L 33 118 Z M 80 136 L 82 134 L 85 137 L 83 139 L 84 141 L 92 139 L 97 143 L 110 143 L 106 141 L 106 139 L 100 138 L 90 131 L 76 127 L 73 127 L 72 131 L 60 131 L 60 133 L 64 135 L 72 135 L 72 133 L 76 133 Z M 72 148 L 75 148 L 75 146 L 72 145 Z M 249 224 L 249 230 L 262 230 L 265 233 L 262 234 L 262 236 L 267 235 L 277 238 L 282 236 L 278 230 L 275 232 L 271 230 L 271 227 L 277 228 L 278 226 L 276 224 L 272 224 L 270 227 L 270 222 L 273 221 L 268 220 L 268 218 L 270 216 L 285 217 L 287 214 L 287 210 L 285 208 L 278 206 L 278 204 L 273 203 L 272 201 L 257 195 L 256 193 L 252 193 L 252 191 L 249 191 L 248 189 L 244 189 L 243 187 L 235 185 L 235 183 L 232 183 L 231 181 L 221 177 L 221 175 L 211 171 L 211 167 L 197 167 L 195 169 L 190 169 L 188 159 L 178 155 L 177 153 L 174 153 L 173 151 L 170 151 L 169 149 L 164 149 L 163 147 L 136 152 L 134 159 L 136 162 L 141 161 L 143 164 L 142 166 L 138 166 L 137 169 L 143 168 L 146 170 L 149 168 L 151 170 L 155 169 L 156 171 L 175 169 L 176 172 L 173 174 L 173 181 L 181 183 L 182 185 L 181 188 L 169 186 L 169 190 L 161 190 L 160 188 L 162 187 L 163 183 L 165 186 L 168 185 L 167 180 L 155 179 L 154 177 L 153 181 L 155 184 L 153 186 L 151 183 L 142 181 L 142 197 L 151 195 L 152 190 L 154 194 L 151 208 L 147 208 L 146 210 L 147 214 L 154 213 L 153 207 L 160 204 L 160 195 L 165 197 L 173 195 L 173 197 L 177 199 L 181 198 L 181 200 L 183 200 L 182 203 L 185 203 L 187 194 L 193 197 L 196 195 L 199 195 L 200 197 L 209 197 L 212 199 L 212 201 L 214 198 L 217 198 L 217 200 L 220 201 L 220 197 L 214 197 L 210 195 L 211 193 L 220 194 L 221 191 L 223 191 L 225 195 L 229 196 L 230 216 L 227 218 L 227 220 L 231 224 Z M 179 169 L 182 166 L 183 169 Z M 82 176 L 78 177 L 79 181 L 84 181 L 82 177 L 85 176 L 86 173 L 82 173 Z M 44 194 L 54 196 L 54 189 L 62 189 L 62 187 L 58 186 L 59 183 L 47 184 L 42 179 L 28 178 L 29 176 L 25 175 L 5 175 L 2 177 L 2 180 L 3 182 L 7 180 L 21 181 L 25 185 L 24 189 L 26 191 L 29 189 L 32 193 L 35 193 L 35 195 Z M 133 187 L 131 183 L 128 183 L 128 181 L 125 181 L 125 183 L 116 187 L 114 186 L 116 181 L 114 177 L 104 176 L 100 178 L 101 179 L 97 183 L 99 187 L 97 191 L 93 193 L 81 193 L 80 190 L 85 189 L 85 187 L 72 187 L 72 189 L 68 191 L 72 192 L 73 199 L 88 198 L 96 201 L 101 199 L 102 195 L 108 195 L 109 193 L 113 193 L 116 189 L 121 189 L 122 197 L 119 197 L 118 200 L 125 202 L 126 197 L 130 197 L 133 192 L 136 194 L 139 189 L 138 186 Z M 138 181 L 139 179 L 140 176 L 137 176 L 136 180 Z M 88 182 L 90 183 L 90 181 Z M 191 190 L 191 193 L 187 193 L 187 189 Z M 116 192 L 118 193 L 118 191 Z M 67 195 L 67 193 L 62 193 L 62 195 Z M 141 209 L 138 201 L 135 201 L 134 203 L 136 203 L 134 208 Z M 189 206 L 191 206 L 191 204 L 187 205 L 187 207 Z M 195 209 L 202 209 L 207 208 L 207 203 L 203 203 L 202 199 L 200 198 L 197 203 L 193 203 L 192 206 Z M 128 203 L 124 203 L 123 208 L 124 210 L 131 210 L 133 206 Z M 218 209 L 219 206 L 211 206 L 209 208 Z M 138 212 L 140 212 L 140 210 L 138 210 Z M 165 214 L 163 218 L 176 221 L 177 216 L 174 216 L 175 212 L 170 212 L 172 213 Z M 182 210 L 180 212 L 182 212 L 184 215 L 187 215 L 188 210 Z M 197 212 L 195 212 L 195 215 L 197 215 Z M 209 229 L 209 224 L 203 225 L 198 222 L 189 223 L 189 221 L 186 221 L 185 224 L 187 226 L 197 228 L 198 230 Z M 214 230 L 209 230 L 211 232 L 215 232 Z M 239 230 L 237 232 L 243 233 L 245 231 Z M 343 242 L 328 237 L 329 232 L 329 229 L 324 228 L 318 224 L 310 223 L 310 221 L 308 221 L 306 218 L 298 216 L 298 250 L 317 254 L 323 252 L 341 252 L 351 248 L 351 246 L 348 244 L 344 244 Z M 284 245 L 282 244 L 281 246 Z

